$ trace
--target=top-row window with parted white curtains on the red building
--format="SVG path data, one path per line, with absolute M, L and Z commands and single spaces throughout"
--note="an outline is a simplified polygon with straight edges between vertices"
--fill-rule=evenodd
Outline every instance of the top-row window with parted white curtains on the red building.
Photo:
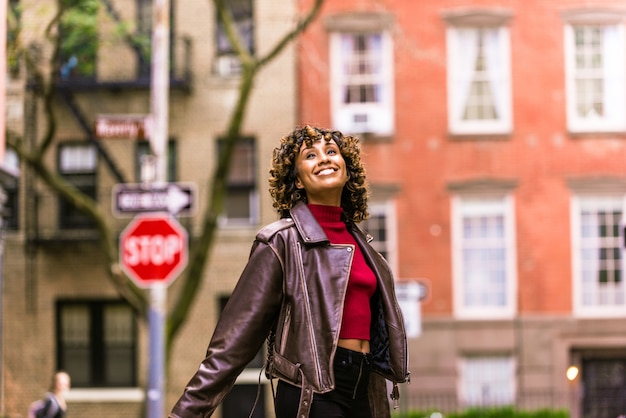
M 509 30 L 449 27 L 448 121 L 452 134 L 512 130 Z

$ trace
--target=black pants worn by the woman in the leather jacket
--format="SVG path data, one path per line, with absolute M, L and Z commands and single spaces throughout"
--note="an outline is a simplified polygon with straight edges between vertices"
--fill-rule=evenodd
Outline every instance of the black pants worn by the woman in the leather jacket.
M 372 418 L 367 385 L 370 375 L 370 355 L 337 347 L 335 389 L 316 393 L 309 418 Z M 296 418 L 300 403 L 300 388 L 278 382 L 276 418 Z

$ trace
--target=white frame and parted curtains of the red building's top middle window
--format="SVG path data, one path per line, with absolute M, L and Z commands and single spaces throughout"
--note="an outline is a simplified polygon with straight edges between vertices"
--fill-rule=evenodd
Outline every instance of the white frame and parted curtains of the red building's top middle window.
M 483 74 L 494 88 L 491 89 L 497 119 L 463 120 L 472 81 L 477 54 L 479 31 L 487 33 L 492 43 L 485 47 L 487 68 Z M 513 129 L 511 104 L 511 52 L 508 27 L 502 26 L 448 26 L 447 42 L 447 90 L 448 129 L 453 135 L 509 134 Z M 491 57 L 491 58 L 490 58 Z M 490 65 L 489 63 L 493 63 Z

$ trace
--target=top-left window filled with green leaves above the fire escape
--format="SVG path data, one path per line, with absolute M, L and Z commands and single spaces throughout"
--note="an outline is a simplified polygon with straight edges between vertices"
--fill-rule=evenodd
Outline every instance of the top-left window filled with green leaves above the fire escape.
M 96 76 L 99 2 L 62 0 L 67 7 L 59 20 L 61 79 Z

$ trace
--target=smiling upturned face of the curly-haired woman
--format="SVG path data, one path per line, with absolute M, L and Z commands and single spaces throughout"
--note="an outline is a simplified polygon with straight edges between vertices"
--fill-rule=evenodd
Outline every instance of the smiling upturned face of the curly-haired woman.
M 306 192 L 309 203 L 340 206 L 343 187 L 348 182 L 346 162 L 335 141 L 306 142 L 296 157 L 296 187 Z

